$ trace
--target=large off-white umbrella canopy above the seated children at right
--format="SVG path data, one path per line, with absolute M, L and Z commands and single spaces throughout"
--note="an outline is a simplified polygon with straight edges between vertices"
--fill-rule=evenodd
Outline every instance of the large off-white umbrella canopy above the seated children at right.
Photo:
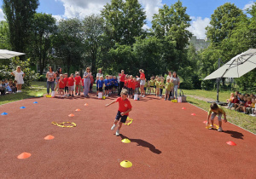
M 246 52 L 236 55 L 229 62 L 224 64 L 208 75 L 206 79 L 214 78 L 240 78 L 256 67 L 256 49 L 248 49 Z

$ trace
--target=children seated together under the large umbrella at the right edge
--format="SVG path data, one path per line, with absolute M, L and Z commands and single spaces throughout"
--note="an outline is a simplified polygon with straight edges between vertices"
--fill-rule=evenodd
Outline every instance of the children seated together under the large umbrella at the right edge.
M 236 91 L 235 94 L 230 94 L 230 99 L 227 99 L 227 108 L 231 109 L 232 107 L 234 107 L 237 112 L 247 113 L 252 116 L 256 116 L 255 98 L 256 96 L 253 94 L 241 95 L 239 91 Z

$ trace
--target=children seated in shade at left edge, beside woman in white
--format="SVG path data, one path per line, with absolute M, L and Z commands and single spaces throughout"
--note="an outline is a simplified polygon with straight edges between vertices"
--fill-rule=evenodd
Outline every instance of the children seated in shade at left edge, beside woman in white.
M 5 94 L 15 94 L 17 93 L 17 81 L 13 81 L 12 79 L 2 79 L 0 84 L 0 93 L 1 95 Z

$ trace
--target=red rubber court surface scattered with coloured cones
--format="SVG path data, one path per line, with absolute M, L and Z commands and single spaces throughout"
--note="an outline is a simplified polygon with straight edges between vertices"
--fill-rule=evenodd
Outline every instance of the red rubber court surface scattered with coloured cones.
M 105 107 L 113 99 L 43 97 L 0 106 L 0 113 L 8 113 L 0 116 L 1 178 L 255 178 L 252 133 L 230 123 L 221 133 L 207 130 L 207 112 L 149 95 L 131 100 L 134 120 L 115 136 L 110 128 L 118 103 Z M 77 126 L 61 128 L 53 121 Z M 55 138 L 44 140 L 49 135 Z M 20 153 L 31 157 L 17 159 Z M 131 168 L 119 165 L 124 160 Z

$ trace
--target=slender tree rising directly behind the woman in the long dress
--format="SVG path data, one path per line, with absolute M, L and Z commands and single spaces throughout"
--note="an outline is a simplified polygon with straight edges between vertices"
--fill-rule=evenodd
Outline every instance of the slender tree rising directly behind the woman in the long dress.
M 84 51 L 86 51 L 85 59 L 90 61 L 91 71 L 96 73 L 96 65 L 99 60 L 105 32 L 103 18 L 95 14 L 85 17 L 83 20 L 83 32 L 85 40 Z

